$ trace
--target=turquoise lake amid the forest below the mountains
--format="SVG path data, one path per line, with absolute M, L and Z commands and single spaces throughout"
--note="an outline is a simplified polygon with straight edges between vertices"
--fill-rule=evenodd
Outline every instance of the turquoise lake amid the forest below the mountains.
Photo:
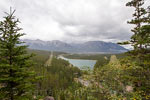
M 87 68 L 87 67 L 89 67 L 90 69 L 93 69 L 94 65 L 96 64 L 96 60 L 68 59 L 63 56 L 59 56 L 58 58 L 67 60 L 69 61 L 70 64 L 80 69 Z

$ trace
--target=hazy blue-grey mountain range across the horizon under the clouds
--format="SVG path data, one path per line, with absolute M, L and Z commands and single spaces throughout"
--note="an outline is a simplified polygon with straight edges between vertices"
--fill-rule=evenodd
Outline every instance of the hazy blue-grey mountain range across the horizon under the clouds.
M 122 53 L 127 49 L 124 47 L 104 41 L 87 41 L 84 43 L 65 43 L 59 40 L 42 41 L 42 40 L 23 40 L 30 49 L 61 51 L 68 53 Z

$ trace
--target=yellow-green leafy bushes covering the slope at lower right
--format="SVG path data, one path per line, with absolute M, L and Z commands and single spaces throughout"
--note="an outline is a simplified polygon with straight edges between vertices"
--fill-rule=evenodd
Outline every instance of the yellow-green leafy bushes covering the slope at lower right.
M 94 71 L 93 85 L 97 87 L 93 89 L 99 89 L 105 100 L 147 100 L 150 99 L 148 71 L 130 57 L 117 60 L 112 56 L 108 64 Z

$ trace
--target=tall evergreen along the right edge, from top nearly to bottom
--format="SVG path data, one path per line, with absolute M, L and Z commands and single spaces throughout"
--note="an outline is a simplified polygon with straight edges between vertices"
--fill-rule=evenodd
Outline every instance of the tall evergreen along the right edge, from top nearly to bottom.
M 131 0 L 126 6 L 135 8 L 133 19 L 128 24 L 135 27 L 131 30 L 133 35 L 130 41 L 122 44 L 131 44 L 134 49 L 129 51 L 131 61 L 135 61 L 137 68 L 131 75 L 136 91 L 143 91 L 145 95 L 150 93 L 150 10 L 144 8 L 145 0 Z M 145 100 L 145 99 L 143 99 Z

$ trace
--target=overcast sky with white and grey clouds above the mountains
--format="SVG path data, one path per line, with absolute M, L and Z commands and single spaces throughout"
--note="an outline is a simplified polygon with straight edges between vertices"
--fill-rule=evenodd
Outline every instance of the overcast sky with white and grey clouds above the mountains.
M 132 33 L 127 20 L 133 9 L 130 0 L 0 0 L 0 20 L 10 6 L 26 39 L 66 42 L 128 40 Z M 146 0 L 150 5 L 150 0 Z

